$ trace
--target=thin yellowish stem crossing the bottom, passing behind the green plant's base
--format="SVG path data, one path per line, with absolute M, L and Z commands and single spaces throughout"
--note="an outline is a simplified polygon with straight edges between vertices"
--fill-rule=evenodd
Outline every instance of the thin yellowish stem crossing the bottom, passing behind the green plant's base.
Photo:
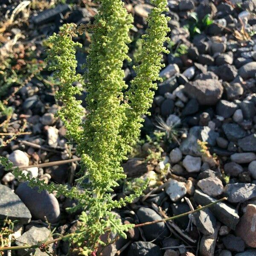
M 170 221 L 170 220 L 173 220 L 175 218 L 180 218 L 180 217 L 183 217 L 183 216 L 186 216 L 186 215 L 189 215 L 191 213 L 195 213 L 195 212 L 199 212 L 203 209 L 206 209 L 208 207 L 211 207 L 212 205 L 214 204 L 217 204 L 221 201 L 224 201 L 224 200 L 227 200 L 226 197 L 224 198 L 221 198 L 215 202 L 212 202 L 210 204 L 207 204 L 205 206 L 202 206 L 202 207 L 199 207 L 198 209 L 195 209 L 193 211 L 189 211 L 189 212 L 184 212 L 182 214 L 179 214 L 179 215 L 176 215 L 176 216 L 172 216 L 172 217 L 169 217 L 169 218 L 164 218 L 162 220 L 158 220 L 158 221 L 148 221 L 148 222 L 145 222 L 145 223 L 142 223 L 142 224 L 137 224 L 135 225 L 134 227 L 143 227 L 143 226 L 146 226 L 146 225 L 151 225 L 151 224 L 155 224 L 155 223 L 158 223 L 158 222 L 163 222 L 163 221 Z M 57 241 L 60 241 L 62 239 L 65 239 L 65 238 L 68 238 L 70 236 L 76 236 L 78 233 L 70 233 L 68 235 L 65 235 L 65 236 L 60 236 L 58 238 L 55 238 L 55 239 L 52 239 L 52 240 L 49 240 L 47 242 L 44 242 L 43 244 L 44 245 L 48 245 L 48 244 L 52 244 L 52 243 L 55 243 Z M 42 243 L 38 243 L 38 244 L 33 244 L 33 245 L 21 245 L 21 246 L 9 246 L 9 247 L 0 247 L 0 251 L 6 251 L 6 250 L 19 250 L 19 249 L 32 249 L 32 248 L 38 248 L 41 246 Z

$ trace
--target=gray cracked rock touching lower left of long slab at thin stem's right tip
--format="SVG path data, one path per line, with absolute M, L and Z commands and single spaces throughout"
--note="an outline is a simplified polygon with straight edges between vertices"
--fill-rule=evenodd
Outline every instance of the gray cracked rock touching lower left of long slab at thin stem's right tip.
M 193 213 L 193 222 L 204 235 L 212 235 L 216 226 L 216 218 L 209 209 Z

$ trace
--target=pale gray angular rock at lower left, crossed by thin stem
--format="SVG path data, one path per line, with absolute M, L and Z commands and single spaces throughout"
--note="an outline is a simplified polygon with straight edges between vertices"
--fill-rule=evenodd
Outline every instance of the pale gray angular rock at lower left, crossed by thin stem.
M 17 246 L 22 245 L 34 245 L 39 242 L 43 242 L 47 239 L 51 239 L 51 231 L 46 227 L 31 227 L 28 231 L 22 234 L 22 236 L 15 239 L 15 244 Z M 20 249 L 17 250 L 18 255 L 38 255 L 38 256 L 47 256 L 48 253 L 53 253 L 53 244 L 49 244 L 48 253 L 41 251 L 39 248 L 33 249 Z

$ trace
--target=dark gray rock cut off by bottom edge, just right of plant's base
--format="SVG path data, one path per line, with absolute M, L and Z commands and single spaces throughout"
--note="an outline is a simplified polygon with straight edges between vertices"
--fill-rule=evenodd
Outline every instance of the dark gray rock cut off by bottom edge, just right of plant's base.
M 160 247 L 150 242 L 133 242 L 128 250 L 128 256 L 162 256 Z

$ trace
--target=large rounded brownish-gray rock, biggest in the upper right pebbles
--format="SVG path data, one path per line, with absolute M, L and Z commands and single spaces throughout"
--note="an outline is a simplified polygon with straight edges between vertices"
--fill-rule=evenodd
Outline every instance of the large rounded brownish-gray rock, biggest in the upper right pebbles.
M 195 80 L 185 84 L 184 92 L 197 99 L 200 105 L 215 105 L 221 98 L 223 87 L 216 79 Z

